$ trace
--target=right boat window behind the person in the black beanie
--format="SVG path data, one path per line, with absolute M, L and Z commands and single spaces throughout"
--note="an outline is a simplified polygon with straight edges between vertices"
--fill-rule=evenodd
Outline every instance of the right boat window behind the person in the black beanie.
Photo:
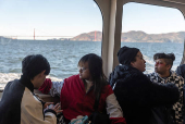
M 153 54 L 174 53 L 175 71 L 183 58 L 184 16 L 177 9 L 130 2 L 123 5 L 121 46 L 139 48 L 146 60 L 146 72 L 155 71 Z

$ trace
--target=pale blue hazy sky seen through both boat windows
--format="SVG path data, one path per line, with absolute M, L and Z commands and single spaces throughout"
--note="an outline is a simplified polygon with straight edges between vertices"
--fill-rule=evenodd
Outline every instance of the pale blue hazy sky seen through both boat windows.
M 36 36 L 74 37 L 102 32 L 102 16 L 92 0 L 0 0 L 0 36 L 33 39 L 34 29 Z M 130 30 L 182 32 L 185 21 L 176 9 L 132 2 L 123 5 L 122 32 Z

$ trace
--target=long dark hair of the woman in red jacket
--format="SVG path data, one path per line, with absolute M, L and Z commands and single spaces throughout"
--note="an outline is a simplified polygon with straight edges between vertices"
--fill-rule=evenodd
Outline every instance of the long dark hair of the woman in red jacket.
M 95 53 L 89 53 L 84 55 L 79 62 L 78 66 L 82 64 L 88 62 L 88 69 L 92 78 L 92 84 L 94 84 L 94 94 L 97 97 L 98 94 L 101 91 L 101 89 L 108 85 L 107 77 L 103 74 L 102 71 L 102 59 L 95 54 Z M 86 86 L 85 79 L 83 79 L 84 85 Z

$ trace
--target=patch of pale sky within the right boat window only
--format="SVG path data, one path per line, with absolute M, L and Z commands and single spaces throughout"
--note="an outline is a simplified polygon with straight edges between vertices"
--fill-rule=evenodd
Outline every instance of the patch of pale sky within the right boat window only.
M 185 21 L 177 9 L 127 3 L 123 5 L 123 32 L 144 30 L 160 34 L 185 30 Z

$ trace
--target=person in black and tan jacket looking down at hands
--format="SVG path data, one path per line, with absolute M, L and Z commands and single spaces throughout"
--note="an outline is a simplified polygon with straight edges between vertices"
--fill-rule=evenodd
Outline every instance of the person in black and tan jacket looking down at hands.
M 60 104 L 47 107 L 34 94 L 50 72 L 49 62 L 41 54 L 27 55 L 22 61 L 22 76 L 9 82 L 0 101 L 0 124 L 57 124 Z M 45 109 L 45 111 L 44 111 Z

